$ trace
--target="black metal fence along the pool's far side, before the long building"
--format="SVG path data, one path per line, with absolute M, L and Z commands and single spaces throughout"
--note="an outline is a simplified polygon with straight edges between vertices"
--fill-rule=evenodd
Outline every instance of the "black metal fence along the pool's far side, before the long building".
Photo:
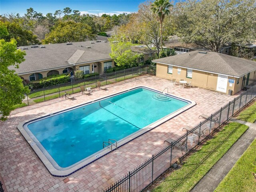
M 30 94 L 26 95 L 25 99 L 22 101 L 22 104 L 17 104 L 15 108 L 21 108 L 24 106 L 56 99 L 63 97 L 64 94 L 74 94 L 80 92 L 80 86 L 96 88 L 97 82 L 100 81 L 101 85 L 108 85 L 129 78 L 134 78 L 136 76 L 141 76 L 144 74 L 152 74 L 154 67 L 150 65 L 144 65 L 134 68 L 125 69 L 118 72 L 113 72 L 109 74 L 104 74 L 101 76 L 95 76 L 92 78 L 86 78 L 82 80 L 76 80 L 74 82 L 68 82 L 64 84 L 59 84 L 56 86 L 51 86 L 47 88 L 42 88 L 38 90 L 33 90 Z

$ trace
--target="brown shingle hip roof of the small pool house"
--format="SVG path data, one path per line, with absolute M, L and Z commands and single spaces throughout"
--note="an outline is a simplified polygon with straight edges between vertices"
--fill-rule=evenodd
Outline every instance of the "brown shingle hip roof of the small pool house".
M 170 64 L 185 68 L 192 68 L 226 74 L 229 76 L 241 77 L 256 70 L 256 62 L 216 52 L 192 51 L 165 58 L 153 60 L 164 64 Z

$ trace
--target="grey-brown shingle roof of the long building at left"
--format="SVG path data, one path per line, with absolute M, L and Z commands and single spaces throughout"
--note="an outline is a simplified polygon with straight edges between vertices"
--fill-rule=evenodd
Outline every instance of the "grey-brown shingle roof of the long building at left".
M 37 48 L 31 48 L 32 46 L 24 47 L 28 48 L 24 50 L 26 52 L 26 60 L 20 64 L 20 68 L 15 69 L 18 74 L 74 66 L 72 64 L 77 63 L 111 59 L 109 56 L 111 52 L 109 42 L 104 41 L 46 44 L 44 45 L 45 48 L 40 48 L 40 46 Z M 22 46 L 19 48 L 23 51 Z M 82 52 L 83 54 L 81 54 Z M 68 61 L 72 64 L 68 63 Z

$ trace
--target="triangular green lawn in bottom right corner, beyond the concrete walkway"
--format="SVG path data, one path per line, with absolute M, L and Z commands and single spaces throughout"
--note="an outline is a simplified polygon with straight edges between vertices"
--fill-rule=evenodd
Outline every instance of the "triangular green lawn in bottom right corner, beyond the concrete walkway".
M 214 192 L 255 191 L 256 180 L 252 174 L 255 161 L 256 140 L 252 142 Z

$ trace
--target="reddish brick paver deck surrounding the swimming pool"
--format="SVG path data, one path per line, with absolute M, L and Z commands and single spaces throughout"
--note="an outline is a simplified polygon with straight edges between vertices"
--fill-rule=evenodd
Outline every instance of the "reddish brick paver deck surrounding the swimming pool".
M 169 93 L 194 100 L 197 105 L 96 160 L 68 178 L 51 176 L 17 129 L 17 125 L 24 120 L 58 112 L 136 86 L 147 86 L 160 91 L 168 87 Z M 172 85 L 169 80 L 150 75 L 110 84 L 106 87 L 107 91 L 94 89 L 90 96 L 81 93 L 74 94 L 75 100 L 58 98 L 16 109 L 6 122 L 1 122 L 0 173 L 8 191 L 99 192 L 162 149 L 166 138 L 175 139 L 184 133 L 182 132 L 184 126 L 195 126 L 199 123 L 200 114 L 210 115 L 236 97 L 202 88 L 183 89 Z

